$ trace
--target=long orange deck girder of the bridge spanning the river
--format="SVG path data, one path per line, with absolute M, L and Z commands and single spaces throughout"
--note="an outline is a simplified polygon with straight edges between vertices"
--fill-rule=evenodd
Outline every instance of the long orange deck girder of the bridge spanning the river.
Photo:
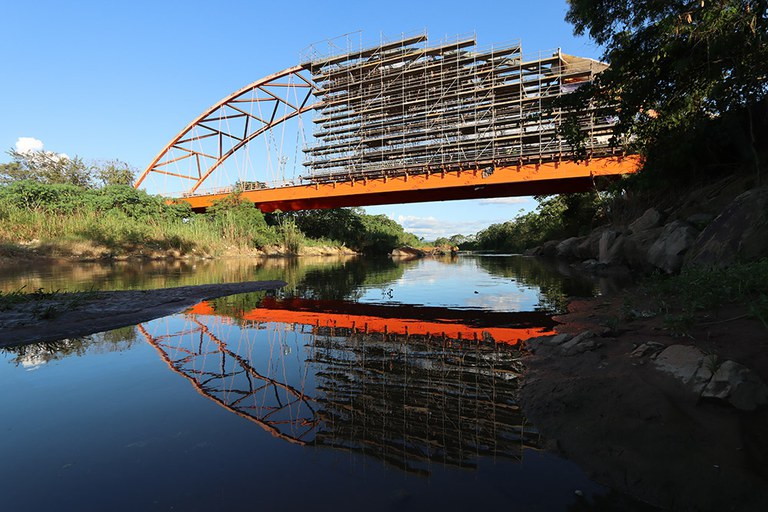
M 265 212 L 416 203 L 453 199 L 529 196 L 583 192 L 596 178 L 618 178 L 636 172 L 639 158 L 598 158 L 589 162 L 549 162 L 520 167 L 399 174 L 376 179 L 349 179 L 280 188 L 245 190 L 241 198 Z M 180 198 L 204 211 L 231 190 Z

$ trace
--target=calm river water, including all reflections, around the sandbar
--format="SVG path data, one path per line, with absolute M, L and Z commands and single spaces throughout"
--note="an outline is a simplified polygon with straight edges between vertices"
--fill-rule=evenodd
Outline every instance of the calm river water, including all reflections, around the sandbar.
M 20 267 L 0 288 L 253 279 L 289 284 L 0 353 L 0 509 L 582 510 L 609 492 L 517 406 L 519 341 L 606 282 L 466 256 Z

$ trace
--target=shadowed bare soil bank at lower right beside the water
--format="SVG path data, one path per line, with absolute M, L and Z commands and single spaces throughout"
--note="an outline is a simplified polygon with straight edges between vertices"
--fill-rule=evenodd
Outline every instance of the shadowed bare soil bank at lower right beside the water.
M 633 296 L 633 293 L 636 294 Z M 637 292 L 571 303 L 560 332 L 603 333 L 594 351 L 562 356 L 541 347 L 527 359 L 526 416 L 550 448 L 598 482 L 671 510 L 768 510 L 768 411 L 705 402 L 657 370 L 647 342 L 693 344 L 768 382 L 768 330 L 729 306 L 673 337 L 661 316 L 616 325 Z M 609 329 L 606 326 L 611 326 Z

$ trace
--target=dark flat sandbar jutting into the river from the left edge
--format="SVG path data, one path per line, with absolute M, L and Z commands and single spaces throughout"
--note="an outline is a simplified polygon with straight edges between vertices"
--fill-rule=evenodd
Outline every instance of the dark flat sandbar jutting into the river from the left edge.
M 183 311 L 200 301 L 282 288 L 283 281 L 59 294 L 0 311 L 0 347 L 85 336 Z

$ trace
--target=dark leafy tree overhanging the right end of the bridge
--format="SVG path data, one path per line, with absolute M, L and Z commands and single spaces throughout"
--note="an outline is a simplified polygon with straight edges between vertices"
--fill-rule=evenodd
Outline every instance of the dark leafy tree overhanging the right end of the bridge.
M 646 168 L 722 165 L 759 171 L 768 140 L 768 2 L 569 0 L 576 34 L 605 47 L 610 67 L 569 95 L 610 106 Z

